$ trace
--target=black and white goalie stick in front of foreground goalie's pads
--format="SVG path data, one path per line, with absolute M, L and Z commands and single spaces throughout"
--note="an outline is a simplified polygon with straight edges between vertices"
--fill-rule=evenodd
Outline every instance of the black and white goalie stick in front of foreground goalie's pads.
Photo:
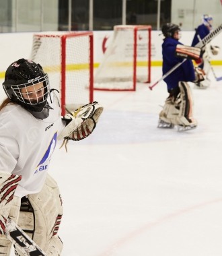
M 47 256 L 34 241 L 13 220 L 8 219 L 5 236 L 26 256 Z

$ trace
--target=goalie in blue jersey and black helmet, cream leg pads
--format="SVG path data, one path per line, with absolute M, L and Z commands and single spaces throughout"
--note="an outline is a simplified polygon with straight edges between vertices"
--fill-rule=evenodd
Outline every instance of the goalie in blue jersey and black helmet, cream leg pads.
M 191 46 L 184 46 L 179 42 L 180 28 L 178 25 L 167 23 L 162 26 L 161 30 L 164 36 L 162 44 L 164 75 L 176 64 L 182 62 L 184 57 L 188 57 L 184 54 L 176 55 L 178 49 L 179 51 L 185 49 L 185 52 L 190 52 L 190 55 L 196 49 Z M 197 50 L 200 53 L 200 49 Z M 192 129 L 197 125 L 196 120 L 192 117 L 193 100 L 188 82 L 198 81 L 203 77 L 201 71 L 194 70 L 194 65 L 190 59 L 192 57 L 188 57 L 180 67 L 164 79 L 170 95 L 165 100 L 163 110 L 159 113 L 159 128 L 173 128 L 174 125 L 178 125 L 182 129 Z

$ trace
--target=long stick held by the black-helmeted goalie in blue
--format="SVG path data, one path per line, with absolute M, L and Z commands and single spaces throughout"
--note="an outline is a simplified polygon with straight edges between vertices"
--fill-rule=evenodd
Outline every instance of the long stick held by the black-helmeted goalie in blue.
M 198 42 L 195 47 L 199 47 L 200 49 L 203 49 L 206 44 L 208 44 L 209 42 L 211 42 L 211 40 L 213 38 L 215 38 L 222 30 L 222 24 L 220 26 L 218 26 L 218 28 L 216 28 L 215 30 L 213 30 L 210 34 L 208 34 L 207 36 L 205 36 L 205 38 L 203 38 L 200 42 Z M 165 73 L 161 78 L 159 78 L 157 80 L 157 82 L 155 82 L 155 84 L 153 84 L 152 86 L 149 86 L 149 89 L 152 90 L 153 87 L 155 87 L 157 84 L 159 84 L 159 82 L 161 82 L 163 79 L 165 79 L 165 77 L 168 77 L 168 75 L 170 75 L 175 69 L 177 69 L 178 67 L 180 67 L 180 65 L 182 65 L 182 63 L 184 63 L 187 59 L 184 59 L 182 62 L 179 62 L 178 64 L 176 64 L 174 67 L 172 67 L 172 69 L 170 69 L 167 73 Z

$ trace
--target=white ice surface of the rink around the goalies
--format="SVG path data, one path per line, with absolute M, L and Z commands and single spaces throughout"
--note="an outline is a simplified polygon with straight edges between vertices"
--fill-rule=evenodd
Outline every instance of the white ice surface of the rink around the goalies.
M 152 83 L 159 77 L 152 67 Z M 63 195 L 62 255 L 222 255 L 222 81 L 211 81 L 191 85 L 198 127 L 183 133 L 157 128 L 163 82 L 94 92 L 104 106 L 94 133 L 69 141 L 68 153 L 57 145 L 50 163 Z

